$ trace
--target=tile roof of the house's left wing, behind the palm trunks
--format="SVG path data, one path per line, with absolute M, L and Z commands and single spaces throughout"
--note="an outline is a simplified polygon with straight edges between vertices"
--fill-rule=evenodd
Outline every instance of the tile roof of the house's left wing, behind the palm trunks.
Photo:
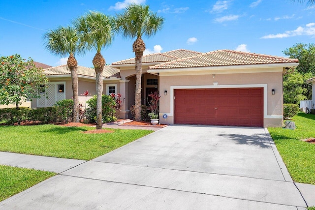
M 43 69 L 44 74 L 46 76 L 50 75 L 70 75 L 70 69 L 67 65 L 59 65 L 55 67 L 50 67 Z M 103 69 L 103 77 L 110 78 L 110 77 L 118 77 L 120 78 L 119 69 L 113 68 L 110 65 L 106 65 Z M 81 76 L 88 76 L 88 77 L 95 77 L 95 70 L 93 68 L 84 67 L 84 66 L 77 66 L 77 75 Z

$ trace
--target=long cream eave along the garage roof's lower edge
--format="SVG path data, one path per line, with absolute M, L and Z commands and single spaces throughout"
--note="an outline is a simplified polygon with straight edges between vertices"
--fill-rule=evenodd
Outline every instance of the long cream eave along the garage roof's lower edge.
M 268 64 L 251 64 L 251 65 L 225 65 L 225 66 L 203 66 L 203 67 L 183 67 L 183 68 L 160 68 L 150 69 L 148 73 L 163 73 L 163 72 L 183 72 L 183 71 L 209 71 L 209 70 L 227 70 L 227 69 L 251 69 L 251 68 L 274 68 L 274 67 L 297 67 L 299 63 L 268 63 Z M 152 66 L 154 67 L 154 66 Z

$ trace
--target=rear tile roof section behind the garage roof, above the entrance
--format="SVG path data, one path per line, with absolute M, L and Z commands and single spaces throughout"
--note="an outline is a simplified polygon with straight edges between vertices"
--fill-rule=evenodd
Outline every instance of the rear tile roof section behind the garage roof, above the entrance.
M 172 50 L 165 53 L 155 53 L 149 54 L 142 57 L 142 63 L 150 63 L 150 62 L 166 62 L 180 58 L 187 58 L 189 56 L 201 55 L 199 52 L 190 51 L 190 50 Z M 120 60 L 117 62 L 113 62 L 112 65 L 119 64 L 132 64 L 135 63 L 135 58 Z

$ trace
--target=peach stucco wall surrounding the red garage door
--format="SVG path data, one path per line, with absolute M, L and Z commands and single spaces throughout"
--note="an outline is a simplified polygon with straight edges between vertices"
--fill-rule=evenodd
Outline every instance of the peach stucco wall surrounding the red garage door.
M 167 123 L 174 123 L 174 113 L 171 106 L 171 98 L 173 94 L 171 91 L 179 88 L 242 88 L 242 86 L 258 86 L 264 88 L 264 95 L 267 101 L 266 110 L 264 113 L 264 127 L 267 126 L 281 126 L 283 116 L 283 81 L 282 69 L 277 72 L 265 73 L 238 73 L 238 74 L 213 74 L 207 75 L 172 75 L 160 74 L 159 89 L 160 92 L 167 90 L 167 95 L 161 94 L 160 98 L 160 120 L 165 121 L 161 116 L 167 114 Z M 215 83 L 215 84 L 214 84 Z M 217 86 L 216 86 L 217 83 Z M 272 95 L 271 90 L 275 89 L 275 95 Z M 265 100 L 264 98 L 264 100 Z

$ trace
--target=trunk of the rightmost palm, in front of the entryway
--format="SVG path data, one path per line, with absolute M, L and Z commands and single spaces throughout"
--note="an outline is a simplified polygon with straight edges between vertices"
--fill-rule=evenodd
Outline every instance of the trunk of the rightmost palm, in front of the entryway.
M 136 91 L 135 91 L 135 113 L 136 121 L 141 120 L 141 76 L 142 76 L 142 55 L 143 52 L 135 52 L 136 56 Z

